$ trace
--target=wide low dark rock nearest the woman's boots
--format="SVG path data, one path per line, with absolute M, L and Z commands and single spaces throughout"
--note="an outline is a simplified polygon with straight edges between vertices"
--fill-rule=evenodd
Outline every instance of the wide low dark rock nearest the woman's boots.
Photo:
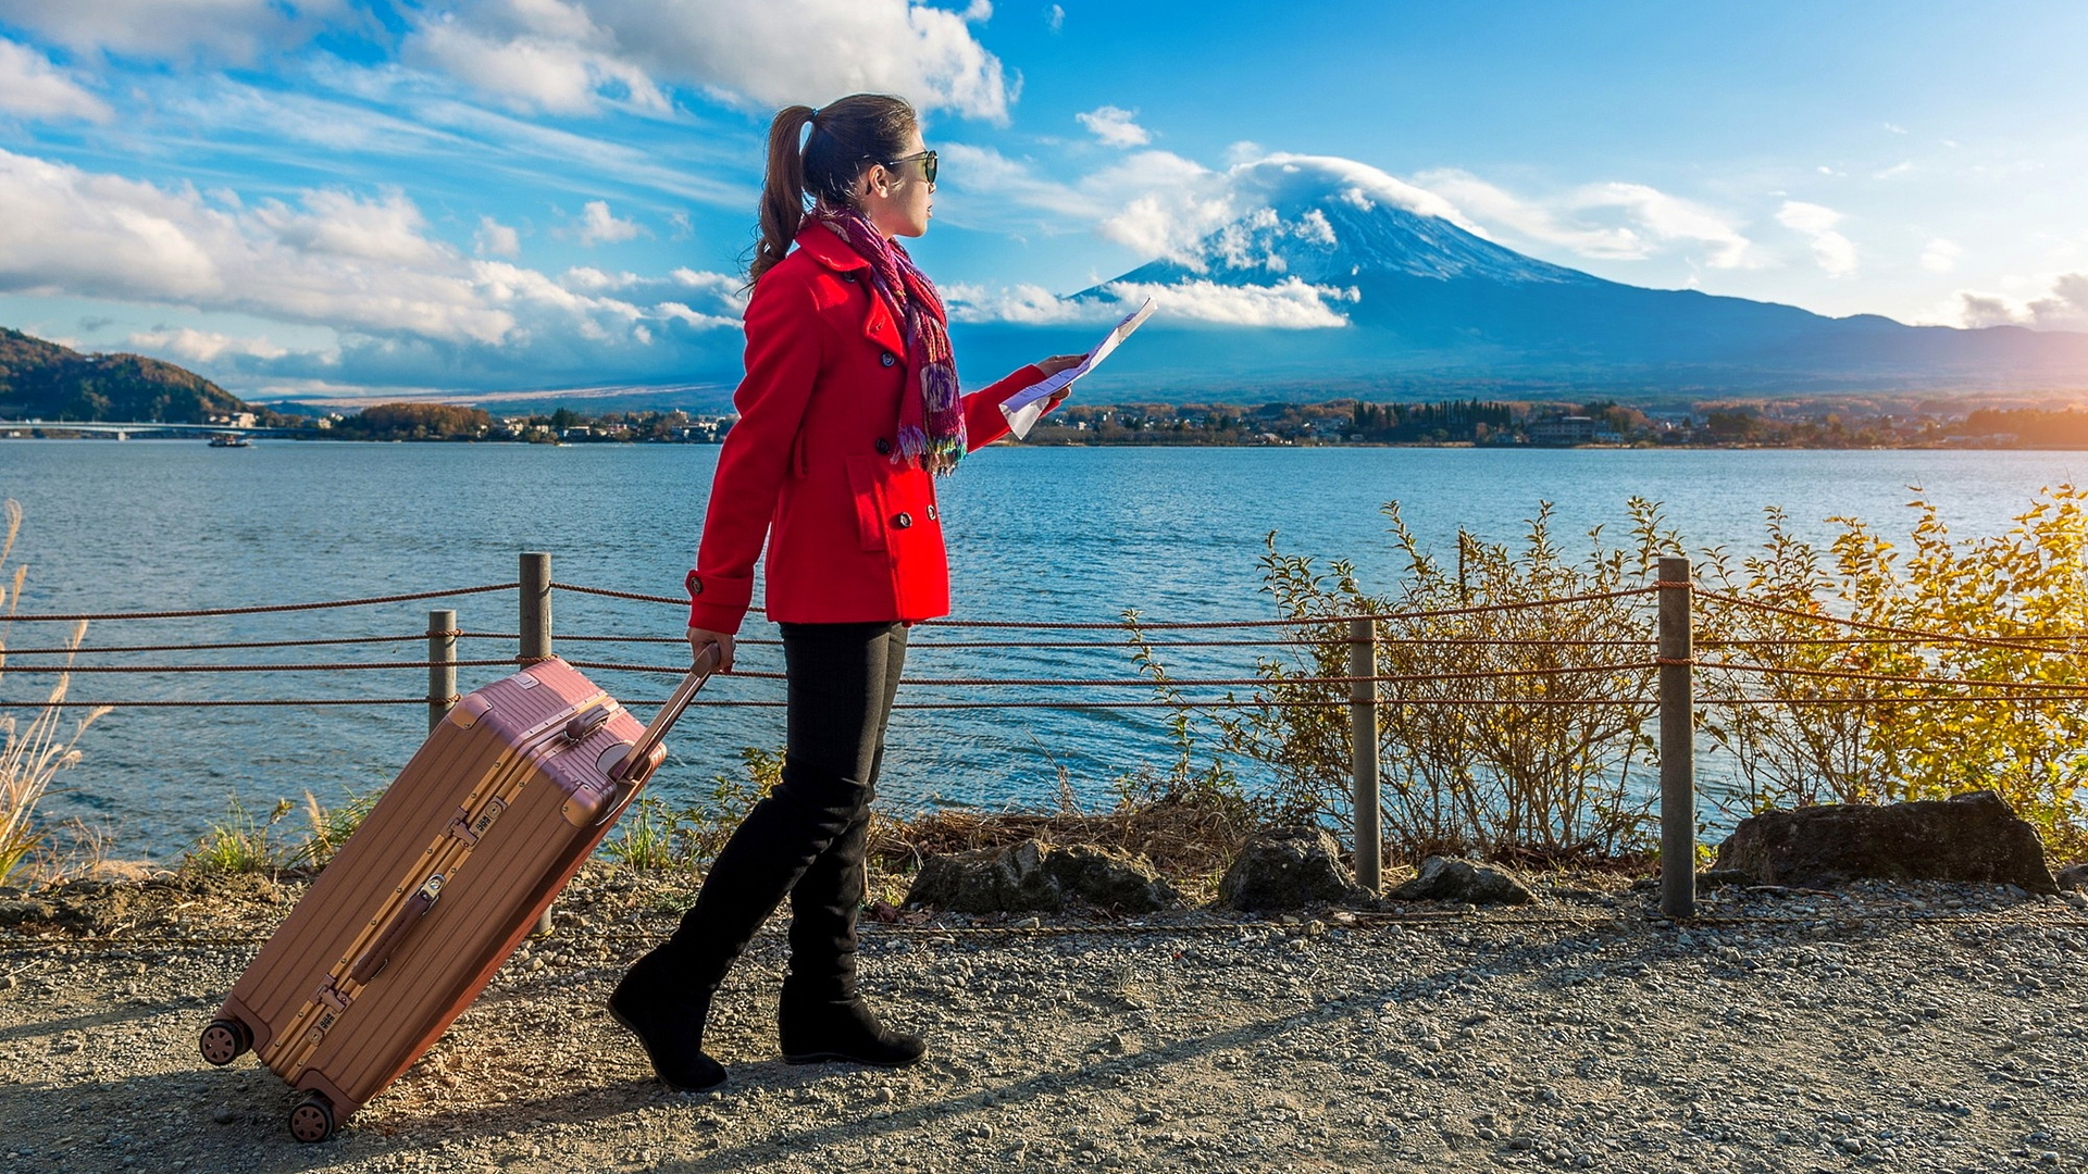
M 1109 848 L 1052 848 L 1038 840 L 929 856 L 906 890 L 906 905 L 954 913 L 1054 913 L 1067 900 L 1119 913 L 1182 905 L 1173 886 L 1138 856 Z

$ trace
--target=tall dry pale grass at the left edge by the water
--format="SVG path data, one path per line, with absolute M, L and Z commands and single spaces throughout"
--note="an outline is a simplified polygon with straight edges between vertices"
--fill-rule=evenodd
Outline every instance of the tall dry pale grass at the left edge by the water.
M 4 510 L 6 535 L 0 537 L 0 606 L 6 610 L 0 612 L 0 679 L 6 675 L 6 637 L 13 627 L 8 620 L 15 616 L 21 587 L 29 577 L 27 566 L 17 566 L 10 577 L 6 574 L 8 558 L 15 554 L 15 539 L 21 535 L 21 503 L 8 499 Z M 86 623 L 73 627 L 65 641 L 67 666 L 73 662 L 71 650 L 79 648 L 86 635 Z M 88 710 L 86 717 L 73 721 L 71 729 L 65 729 L 65 708 L 61 702 L 65 702 L 69 687 L 71 675 L 61 673 L 33 717 L 23 721 L 10 712 L 0 714 L 0 884 L 6 884 L 17 873 L 31 879 L 61 879 L 77 867 L 81 854 L 92 861 L 100 856 L 104 840 L 77 821 L 67 827 L 86 831 L 86 836 L 75 833 L 71 838 L 73 844 L 67 848 L 56 844 L 56 829 L 46 827 L 35 815 L 35 804 L 50 794 L 50 783 L 58 771 L 79 762 L 79 735 L 109 712 L 106 708 Z

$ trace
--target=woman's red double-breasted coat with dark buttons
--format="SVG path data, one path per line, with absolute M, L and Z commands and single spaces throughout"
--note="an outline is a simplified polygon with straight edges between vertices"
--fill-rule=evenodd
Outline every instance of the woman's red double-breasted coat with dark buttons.
M 748 301 L 739 422 L 710 480 L 689 572 L 689 627 L 735 633 L 768 539 L 768 618 L 927 620 L 950 612 L 935 478 L 892 464 L 906 393 L 900 324 L 869 261 L 808 224 Z M 1009 430 L 1000 403 L 1044 378 L 1029 366 L 965 397 L 971 447 Z M 915 393 L 919 395 L 919 393 Z

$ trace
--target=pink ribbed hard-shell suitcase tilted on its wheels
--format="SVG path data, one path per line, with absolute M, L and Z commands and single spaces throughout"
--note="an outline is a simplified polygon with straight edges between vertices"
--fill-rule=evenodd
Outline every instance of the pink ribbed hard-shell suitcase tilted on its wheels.
M 305 1093 L 290 1134 L 332 1136 L 484 990 L 714 666 L 706 650 L 647 727 L 555 658 L 459 700 L 246 967 L 203 1059 L 255 1051 Z

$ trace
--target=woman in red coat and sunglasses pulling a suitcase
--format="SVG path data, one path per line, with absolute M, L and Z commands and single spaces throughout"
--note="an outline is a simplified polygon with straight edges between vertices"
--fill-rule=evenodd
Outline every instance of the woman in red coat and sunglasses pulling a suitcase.
M 935 476 L 1009 430 L 1006 397 L 1079 361 L 1057 355 L 958 395 L 942 299 L 894 240 L 927 232 L 933 190 L 935 152 L 900 98 L 789 107 L 768 130 L 748 376 L 687 587 L 691 650 L 716 645 L 731 668 L 766 539 L 787 750 L 681 928 L 610 996 L 674 1088 L 725 1082 L 704 1055 L 710 999 L 783 896 L 783 1059 L 904 1065 L 925 1051 L 856 994 L 856 907 L 906 625 L 950 610 Z

